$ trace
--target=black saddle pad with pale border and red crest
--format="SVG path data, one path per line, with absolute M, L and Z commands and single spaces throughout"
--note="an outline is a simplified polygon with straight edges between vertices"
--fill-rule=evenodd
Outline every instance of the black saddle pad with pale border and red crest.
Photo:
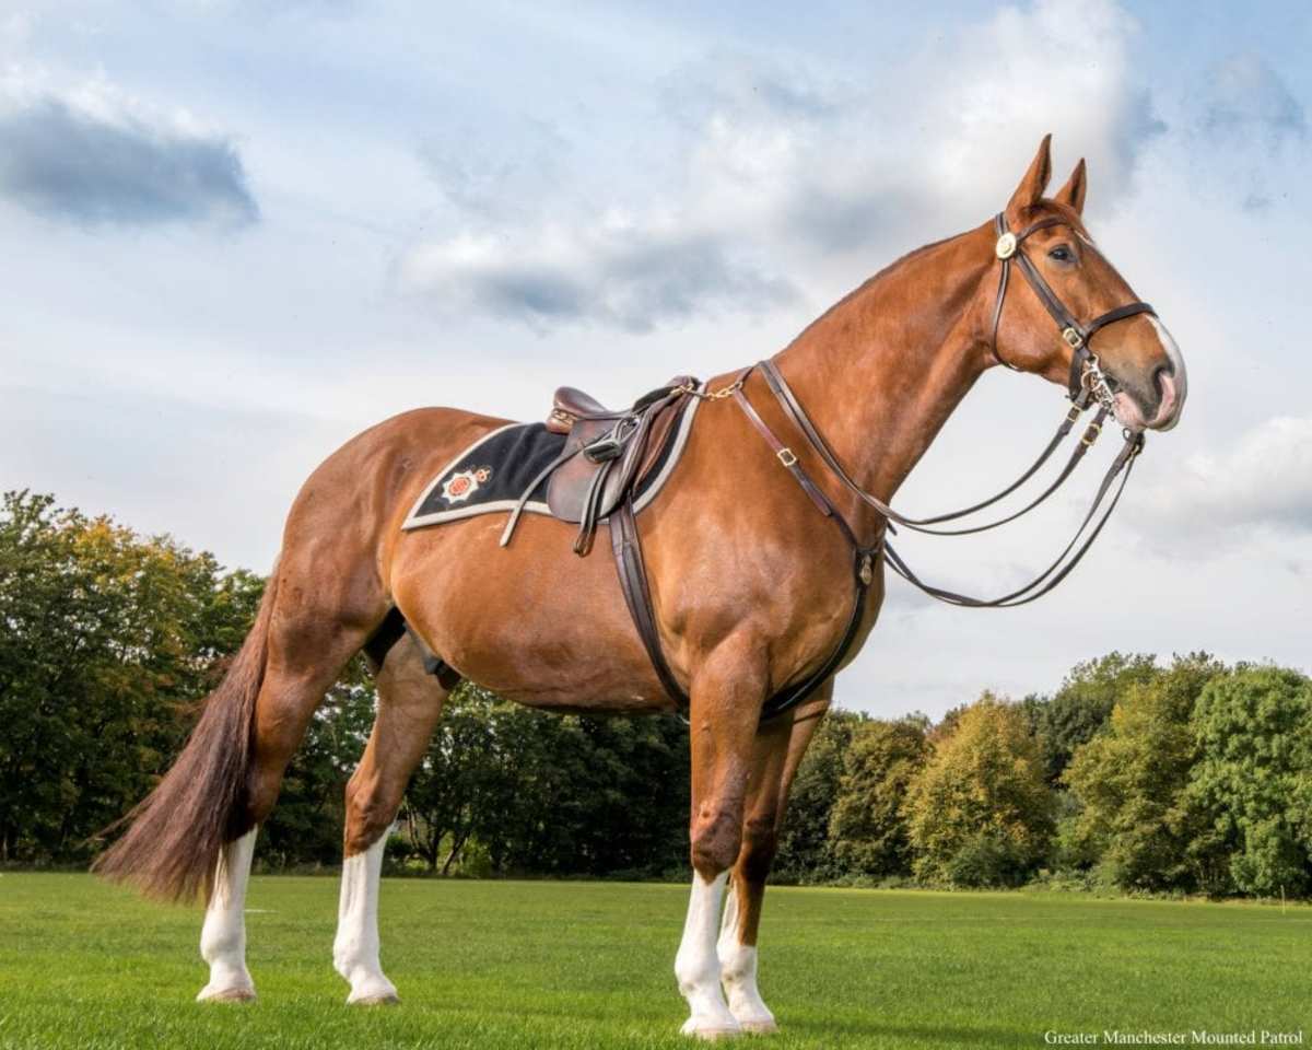
M 651 503 L 674 471 L 697 415 L 697 398 L 689 398 L 678 425 L 670 429 L 665 448 L 634 492 L 634 512 Z M 415 501 L 401 529 L 421 529 L 475 514 L 512 511 L 533 479 L 560 455 L 565 434 L 551 433 L 543 423 L 508 423 L 483 434 L 451 459 Z M 543 479 L 525 504 L 525 513 L 551 516 Z

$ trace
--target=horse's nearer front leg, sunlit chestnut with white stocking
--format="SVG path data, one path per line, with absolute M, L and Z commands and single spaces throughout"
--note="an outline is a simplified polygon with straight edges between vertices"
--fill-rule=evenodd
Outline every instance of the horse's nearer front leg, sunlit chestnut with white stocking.
M 743 1030 L 720 990 L 715 940 L 724 883 L 743 843 L 743 811 L 765 681 L 760 650 L 731 640 L 715 650 L 691 682 L 693 894 L 674 959 L 678 990 L 689 1005 L 685 1036 L 714 1040 Z

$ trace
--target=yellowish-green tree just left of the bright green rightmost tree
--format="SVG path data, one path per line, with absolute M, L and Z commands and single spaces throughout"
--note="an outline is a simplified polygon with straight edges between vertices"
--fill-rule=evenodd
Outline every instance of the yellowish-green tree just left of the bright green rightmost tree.
M 1215 844 L 1186 788 L 1198 759 L 1190 715 L 1223 671 L 1206 654 L 1176 658 L 1132 685 L 1106 731 L 1076 751 L 1063 777 L 1078 805 L 1060 833 L 1065 862 L 1123 890 L 1215 887 Z

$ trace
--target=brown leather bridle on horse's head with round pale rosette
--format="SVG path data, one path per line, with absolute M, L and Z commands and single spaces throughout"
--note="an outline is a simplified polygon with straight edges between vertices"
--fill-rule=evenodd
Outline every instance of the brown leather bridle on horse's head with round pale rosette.
M 1006 299 L 1006 286 L 1012 273 L 1012 261 L 1014 260 L 1021 268 L 1025 280 L 1029 281 L 1030 287 L 1034 289 L 1034 294 L 1039 297 L 1039 302 L 1052 315 L 1052 320 L 1057 323 L 1063 341 L 1071 348 L 1071 379 L 1068 381 L 1071 400 L 1082 408 L 1089 403 L 1089 398 L 1092 396 L 1110 412 L 1113 408 L 1113 381 L 1099 366 L 1098 356 L 1089 349 L 1089 340 L 1094 332 L 1118 320 L 1134 318 L 1139 314 L 1148 314 L 1155 318 L 1157 316 L 1157 311 L 1148 306 L 1148 303 L 1126 303 L 1124 306 L 1118 306 L 1115 310 L 1109 310 L 1106 314 L 1101 314 L 1088 324 L 1080 324 L 1076 316 L 1067 310 L 1065 303 L 1057 298 L 1052 286 L 1043 280 L 1039 268 L 1034 265 L 1034 261 L 1025 252 L 1025 242 L 1031 234 L 1052 226 L 1068 226 L 1075 230 L 1073 223 L 1056 215 L 1039 219 L 1019 234 L 1013 234 L 1008 228 L 1006 217 L 1001 211 L 993 219 L 993 228 L 997 230 L 997 245 L 994 251 L 1002 262 L 1002 273 L 997 278 L 997 302 L 993 303 L 993 337 L 991 341 L 993 356 L 1013 371 L 1021 371 L 1021 369 L 1002 357 L 997 349 L 997 327 L 1002 320 L 1002 303 Z M 1076 235 L 1078 236 L 1077 230 Z M 1092 242 L 1082 236 L 1080 239 L 1093 248 Z

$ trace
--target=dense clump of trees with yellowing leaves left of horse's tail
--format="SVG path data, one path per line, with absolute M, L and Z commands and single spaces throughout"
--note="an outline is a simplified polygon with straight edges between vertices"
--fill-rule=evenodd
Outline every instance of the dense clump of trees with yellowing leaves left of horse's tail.
M 0 860 L 85 858 L 151 786 L 261 581 L 108 517 L 0 504 Z

